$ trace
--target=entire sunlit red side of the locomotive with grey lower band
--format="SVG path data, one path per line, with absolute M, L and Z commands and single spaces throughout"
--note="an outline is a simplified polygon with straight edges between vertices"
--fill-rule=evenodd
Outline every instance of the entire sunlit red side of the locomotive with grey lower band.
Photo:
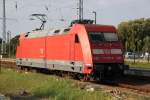
M 81 32 L 82 34 L 80 34 Z M 19 40 L 20 45 L 17 47 L 16 55 L 18 66 L 30 66 L 83 74 L 91 73 L 92 69 L 88 71 L 85 68 L 85 65 L 88 66 L 89 63 L 86 56 L 87 50 L 84 52 L 83 50 L 88 49 L 91 61 L 92 58 L 90 46 L 87 45 L 88 36 L 82 25 L 72 27 L 69 34 L 45 34 L 42 37 L 30 37 L 30 35 L 26 36 L 23 34 Z M 85 46 L 82 44 L 84 41 L 86 43 Z

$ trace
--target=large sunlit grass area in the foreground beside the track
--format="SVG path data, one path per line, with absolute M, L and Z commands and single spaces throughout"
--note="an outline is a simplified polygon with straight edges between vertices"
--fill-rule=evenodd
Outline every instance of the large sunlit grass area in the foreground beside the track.
M 20 96 L 22 91 L 30 95 Z M 19 73 L 12 69 L 2 69 L 0 93 L 21 100 L 111 100 L 109 95 L 101 91 L 87 92 L 80 89 L 73 80 L 37 73 Z

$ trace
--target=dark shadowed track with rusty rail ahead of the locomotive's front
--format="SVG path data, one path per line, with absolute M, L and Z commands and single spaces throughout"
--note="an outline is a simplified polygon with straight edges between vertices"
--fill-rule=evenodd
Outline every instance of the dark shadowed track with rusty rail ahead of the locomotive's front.
M 148 77 L 126 75 L 112 80 L 112 82 L 106 82 L 106 84 L 114 84 L 114 86 L 131 89 L 136 92 L 144 92 L 150 95 L 150 79 Z

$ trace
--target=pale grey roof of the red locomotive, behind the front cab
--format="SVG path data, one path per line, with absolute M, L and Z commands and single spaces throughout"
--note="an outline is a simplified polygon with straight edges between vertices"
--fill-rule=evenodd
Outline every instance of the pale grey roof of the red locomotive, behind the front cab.
M 68 34 L 70 28 L 50 28 L 45 30 L 37 30 L 28 32 L 25 34 L 26 38 L 37 38 L 37 37 L 44 37 L 44 36 L 53 36 L 53 35 L 60 35 L 60 34 Z

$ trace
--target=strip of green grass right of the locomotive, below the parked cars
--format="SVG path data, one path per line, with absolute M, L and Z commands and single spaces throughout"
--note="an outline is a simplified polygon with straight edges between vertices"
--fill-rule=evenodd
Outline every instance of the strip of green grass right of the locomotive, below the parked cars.
M 131 61 L 126 61 L 126 64 L 129 65 L 131 68 L 142 68 L 142 69 L 150 69 L 150 63 L 147 62 L 131 62 Z

